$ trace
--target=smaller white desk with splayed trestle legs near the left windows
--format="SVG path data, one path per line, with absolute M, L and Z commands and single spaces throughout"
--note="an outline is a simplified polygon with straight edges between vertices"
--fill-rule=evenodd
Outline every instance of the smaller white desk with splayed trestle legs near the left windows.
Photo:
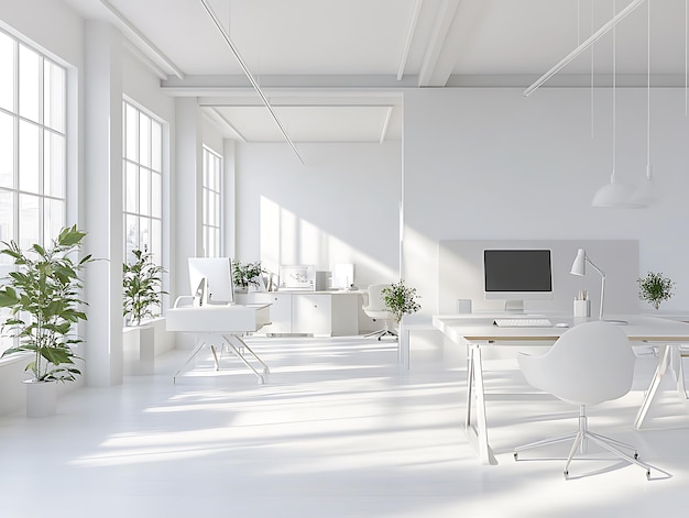
M 269 324 L 270 320 L 270 305 L 176 306 L 168 309 L 165 319 L 167 331 L 194 333 L 197 337 L 194 351 L 173 376 L 173 383 L 204 345 L 210 345 L 216 370 L 219 370 L 216 351 L 218 344 L 228 346 L 258 376 L 259 383 L 265 383 L 263 375 L 270 373 L 267 365 L 247 345 L 241 335 L 258 331 Z M 243 350 L 249 351 L 253 360 L 261 364 L 262 372 L 251 364 Z

